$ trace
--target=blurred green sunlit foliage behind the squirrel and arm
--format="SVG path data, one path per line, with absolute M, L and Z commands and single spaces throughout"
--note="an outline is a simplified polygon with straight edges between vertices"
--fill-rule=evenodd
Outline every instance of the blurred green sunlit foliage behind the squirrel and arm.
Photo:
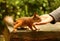
M 39 15 L 49 14 L 59 6 L 60 0 L 0 0 L 0 27 L 6 15 L 12 15 L 17 19 L 32 16 L 34 12 Z

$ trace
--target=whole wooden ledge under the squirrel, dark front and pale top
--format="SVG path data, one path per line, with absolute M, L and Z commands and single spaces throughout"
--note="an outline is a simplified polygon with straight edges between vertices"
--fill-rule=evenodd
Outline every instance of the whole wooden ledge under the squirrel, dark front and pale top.
M 60 23 L 39 26 L 39 31 L 19 30 L 16 33 L 9 32 L 5 28 L 6 41 L 60 41 Z

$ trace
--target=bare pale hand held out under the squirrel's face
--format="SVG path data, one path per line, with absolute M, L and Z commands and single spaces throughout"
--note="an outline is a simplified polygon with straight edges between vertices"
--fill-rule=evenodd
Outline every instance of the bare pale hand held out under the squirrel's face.
M 33 25 L 43 25 L 53 21 L 53 18 L 49 14 L 41 15 L 41 22 L 35 22 Z

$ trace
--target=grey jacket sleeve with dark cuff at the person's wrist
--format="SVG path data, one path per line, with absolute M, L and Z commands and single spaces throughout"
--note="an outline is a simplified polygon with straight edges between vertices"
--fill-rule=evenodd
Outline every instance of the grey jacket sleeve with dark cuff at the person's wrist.
M 60 22 L 60 7 L 49 13 L 49 15 L 53 18 L 51 23 Z

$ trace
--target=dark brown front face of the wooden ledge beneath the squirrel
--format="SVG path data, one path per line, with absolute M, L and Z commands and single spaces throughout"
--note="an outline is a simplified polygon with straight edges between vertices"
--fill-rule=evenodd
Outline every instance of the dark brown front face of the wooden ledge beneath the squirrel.
M 16 32 L 11 33 L 10 41 L 60 41 L 60 32 Z

